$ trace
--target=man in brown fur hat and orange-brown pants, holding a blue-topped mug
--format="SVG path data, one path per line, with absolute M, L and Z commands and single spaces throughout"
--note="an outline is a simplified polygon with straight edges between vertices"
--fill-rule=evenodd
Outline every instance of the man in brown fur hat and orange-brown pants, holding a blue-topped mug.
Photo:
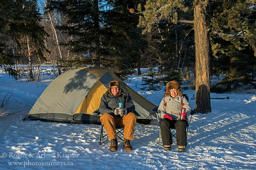
M 123 103 L 123 108 L 118 103 Z M 111 81 L 109 90 L 103 94 L 100 101 L 101 123 L 105 126 L 111 145 L 111 151 L 117 150 L 116 128 L 124 128 L 124 148 L 131 151 L 130 140 L 133 140 L 133 131 L 138 116 L 134 114 L 135 107 L 130 95 L 120 88 L 118 81 Z

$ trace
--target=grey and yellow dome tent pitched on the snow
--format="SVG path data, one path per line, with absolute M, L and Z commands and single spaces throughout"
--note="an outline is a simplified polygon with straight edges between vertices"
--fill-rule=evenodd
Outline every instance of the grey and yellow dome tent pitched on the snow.
M 135 105 L 135 114 L 139 116 L 138 122 L 156 119 L 151 114 L 156 106 L 122 82 L 113 71 L 85 67 L 67 71 L 54 79 L 24 120 L 100 124 L 101 114 L 97 115 L 95 111 L 113 80 L 119 81 L 120 87 L 130 94 Z

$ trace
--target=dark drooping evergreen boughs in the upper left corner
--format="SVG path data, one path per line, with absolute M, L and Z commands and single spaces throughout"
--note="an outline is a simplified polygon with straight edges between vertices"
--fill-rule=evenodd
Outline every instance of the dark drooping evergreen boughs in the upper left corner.
M 18 59 L 13 51 L 20 44 L 26 43 L 22 41 L 24 37 L 30 38 L 37 49 L 37 55 L 42 56 L 40 51 L 43 46 L 44 29 L 39 25 L 41 19 L 36 0 L 3 0 L 0 2 L 0 19 L 2 24 L 0 30 L 7 39 L 1 39 L 5 51 L 0 52 L 2 55 L 8 55 L 10 60 L 5 60 L 5 64 L 1 62 L 9 73 L 16 77 L 17 70 L 12 69 L 15 61 Z M 11 42 L 11 43 L 10 43 Z M 11 44 L 11 45 L 8 45 Z M 13 46 L 13 47 L 11 47 Z M 10 49 L 12 48 L 12 49 Z M 6 56 L 3 56 L 6 58 Z M 4 60 L 4 59 L 3 59 Z M 8 65 L 6 65 L 9 63 Z

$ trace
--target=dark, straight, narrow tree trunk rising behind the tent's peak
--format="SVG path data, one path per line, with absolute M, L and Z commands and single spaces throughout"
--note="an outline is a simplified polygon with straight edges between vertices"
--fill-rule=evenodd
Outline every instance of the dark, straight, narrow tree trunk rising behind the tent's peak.
M 98 0 L 94 0 L 94 28 L 95 28 L 95 67 L 100 68 L 100 36 L 99 36 L 99 5 Z

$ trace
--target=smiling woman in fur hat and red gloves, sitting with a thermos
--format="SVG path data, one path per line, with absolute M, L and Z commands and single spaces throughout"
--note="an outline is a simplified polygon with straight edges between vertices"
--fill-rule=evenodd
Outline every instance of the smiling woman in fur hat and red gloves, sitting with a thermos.
M 185 120 L 180 119 L 182 107 L 186 108 Z M 160 124 L 163 150 L 169 151 L 172 145 L 172 135 L 170 128 L 176 128 L 176 143 L 179 146 L 178 151 L 184 152 L 187 145 L 187 118 L 191 113 L 191 108 L 187 99 L 182 96 L 180 85 L 177 81 L 171 81 L 166 84 L 166 94 L 162 99 L 158 114 L 162 119 Z

